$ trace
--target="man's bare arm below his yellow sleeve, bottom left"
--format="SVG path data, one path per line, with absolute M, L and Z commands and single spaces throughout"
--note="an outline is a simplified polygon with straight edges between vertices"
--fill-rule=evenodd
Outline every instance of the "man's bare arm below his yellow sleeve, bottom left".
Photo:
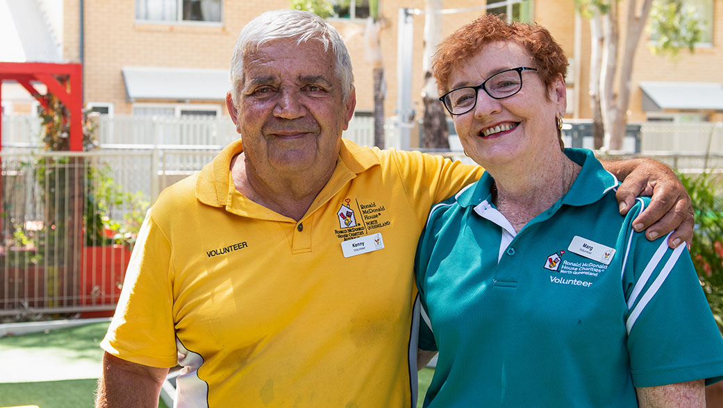
M 130 363 L 106 352 L 95 408 L 156 408 L 167 374 L 168 368 Z

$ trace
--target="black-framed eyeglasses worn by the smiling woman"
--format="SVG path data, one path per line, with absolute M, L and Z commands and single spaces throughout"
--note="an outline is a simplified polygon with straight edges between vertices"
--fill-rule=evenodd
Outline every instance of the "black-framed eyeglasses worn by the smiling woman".
M 461 87 L 450 90 L 450 92 L 440 97 L 440 101 L 451 115 L 463 115 L 474 109 L 477 104 L 477 92 L 480 89 L 487 92 L 489 97 L 495 99 L 504 99 L 520 92 L 522 89 L 522 71 L 536 72 L 537 69 L 527 66 L 505 69 L 505 71 L 497 72 L 497 74 L 487 78 L 486 81 L 476 87 Z

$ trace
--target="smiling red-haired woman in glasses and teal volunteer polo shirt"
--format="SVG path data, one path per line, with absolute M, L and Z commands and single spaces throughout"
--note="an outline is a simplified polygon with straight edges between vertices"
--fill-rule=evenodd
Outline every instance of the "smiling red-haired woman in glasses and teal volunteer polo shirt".
M 487 15 L 433 69 L 487 170 L 432 208 L 416 256 L 439 350 L 425 407 L 704 407 L 723 340 L 685 245 L 647 240 L 617 180 L 563 149 L 568 58 L 549 32 Z M 431 331 L 427 330 L 431 329 Z

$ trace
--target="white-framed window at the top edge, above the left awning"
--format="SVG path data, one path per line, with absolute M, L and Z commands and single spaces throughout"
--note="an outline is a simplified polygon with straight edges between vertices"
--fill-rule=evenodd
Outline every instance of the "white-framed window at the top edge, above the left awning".
M 221 22 L 221 0 L 135 0 L 137 20 Z

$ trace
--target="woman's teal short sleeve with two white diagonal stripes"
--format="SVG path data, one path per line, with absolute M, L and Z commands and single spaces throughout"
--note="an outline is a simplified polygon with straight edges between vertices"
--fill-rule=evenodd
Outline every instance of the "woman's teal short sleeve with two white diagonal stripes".
M 632 233 L 623 275 L 633 385 L 723 379 L 723 339 L 685 245 Z

